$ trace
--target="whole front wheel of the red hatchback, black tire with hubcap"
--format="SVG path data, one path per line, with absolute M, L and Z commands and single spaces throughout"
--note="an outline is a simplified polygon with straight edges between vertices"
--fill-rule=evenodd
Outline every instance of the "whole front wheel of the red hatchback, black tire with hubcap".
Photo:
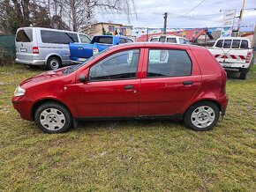
M 72 128 L 72 114 L 61 104 L 46 102 L 34 113 L 37 126 L 47 133 L 64 133 Z

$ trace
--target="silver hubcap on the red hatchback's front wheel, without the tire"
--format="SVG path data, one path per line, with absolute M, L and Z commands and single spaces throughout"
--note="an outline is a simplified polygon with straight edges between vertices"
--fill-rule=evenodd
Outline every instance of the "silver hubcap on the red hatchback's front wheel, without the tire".
M 64 127 L 65 117 L 56 108 L 47 108 L 41 112 L 40 122 L 45 129 L 58 130 Z

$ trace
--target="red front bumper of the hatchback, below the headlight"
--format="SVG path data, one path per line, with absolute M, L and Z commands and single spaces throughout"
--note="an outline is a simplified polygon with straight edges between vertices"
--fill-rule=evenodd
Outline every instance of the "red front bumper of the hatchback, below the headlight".
M 33 121 L 32 118 L 32 107 L 33 102 L 28 100 L 26 96 L 13 97 L 12 100 L 13 107 L 19 112 L 20 117 L 27 121 Z

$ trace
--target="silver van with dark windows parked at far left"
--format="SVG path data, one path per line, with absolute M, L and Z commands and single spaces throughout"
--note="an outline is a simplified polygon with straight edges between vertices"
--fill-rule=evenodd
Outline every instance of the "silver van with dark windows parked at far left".
M 56 70 L 71 63 L 70 42 L 90 43 L 91 40 L 83 33 L 40 27 L 19 28 L 15 40 L 15 62 Z

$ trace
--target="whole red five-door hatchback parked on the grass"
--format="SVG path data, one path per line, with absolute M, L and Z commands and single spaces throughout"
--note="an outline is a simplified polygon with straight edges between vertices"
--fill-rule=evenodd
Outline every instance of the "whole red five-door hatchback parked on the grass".
M 212 129 L 228 104 L 226 72 L 207 48 L 169 43 L 111 47 L 84 63 L 22 82 L 12 103 L 48 133 L 78 120 L 157 118 Z

